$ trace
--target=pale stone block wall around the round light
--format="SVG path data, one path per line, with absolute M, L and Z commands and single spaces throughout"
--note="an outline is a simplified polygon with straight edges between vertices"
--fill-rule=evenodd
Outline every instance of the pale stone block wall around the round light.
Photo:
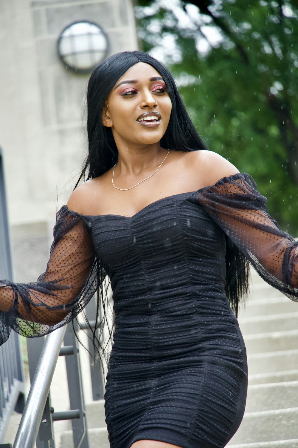
M 0 1 L 0 146 L 18 281 L 45 269 L 55 212 L 86 155 L 89 75 L 67 70 L 56 51 L 77 20 L 103 28 L 108 56 L 138 48 L 131 0 Z

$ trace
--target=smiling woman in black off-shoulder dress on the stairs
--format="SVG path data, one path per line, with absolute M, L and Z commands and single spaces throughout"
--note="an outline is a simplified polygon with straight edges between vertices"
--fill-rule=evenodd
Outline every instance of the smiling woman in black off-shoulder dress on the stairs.
M 92 73 L 87 100 L 80 179 L 89 168 L 88 180 L 57 214 L 45 274 L 36 284 L 4 280 L 2 340 L 10 327 L 38 336 L 67 323 L 107 274 L 110 446 L 224 447 L 247 392 L 245 346 L 227 299 L 236 313 L 248 284 L 239 249 L 297 300 L 297 243 L 268 215 L 252 178 L 206 150 L 157 60 L 111 56 Z

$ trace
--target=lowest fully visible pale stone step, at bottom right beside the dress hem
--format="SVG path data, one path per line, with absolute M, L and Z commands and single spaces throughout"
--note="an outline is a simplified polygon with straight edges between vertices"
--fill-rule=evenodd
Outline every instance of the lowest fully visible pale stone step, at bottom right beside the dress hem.
M 239 430 L 228 446 L 296 440 L 298 439 L 297 413 L 297 407 L 246 413 Z

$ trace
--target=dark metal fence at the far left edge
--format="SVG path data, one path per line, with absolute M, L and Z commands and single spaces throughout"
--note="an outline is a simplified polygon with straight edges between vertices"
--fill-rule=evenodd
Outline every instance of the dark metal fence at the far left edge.
M 12 277 L 3 157 L 0 148 L 0 279 L 12 280 Z M 24 405 L 20 336 L 11 332 L 8 341 L 0 347 L 0 443 L 7 428 L 9 416 L 13 410 L 21 413 Z

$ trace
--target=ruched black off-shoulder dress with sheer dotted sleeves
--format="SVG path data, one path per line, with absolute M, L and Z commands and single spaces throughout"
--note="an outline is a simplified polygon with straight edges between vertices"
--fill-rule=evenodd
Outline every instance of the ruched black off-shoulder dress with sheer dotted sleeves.
M 10 327 L 37 336 L 67 323 L 104 269 L 115 312 L 105 393 L 111 448 L 139 439 L 224 447 L 247 391 L 245 346 L 224 292 L 226 235 L 266 281 L 298 300 L 298 242 L 265 203 L 239 173 L 131 218 L 62 207 L 45 274 L 0 288 L 2 341 Z

